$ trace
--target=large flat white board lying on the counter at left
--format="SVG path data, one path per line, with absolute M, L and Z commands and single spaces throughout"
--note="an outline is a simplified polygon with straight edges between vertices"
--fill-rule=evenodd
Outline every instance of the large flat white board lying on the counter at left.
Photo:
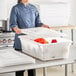
M 35 63 L 35 59 L 15 51 L 13 48 L 0 50 L 0 68 L 12 65 Z

